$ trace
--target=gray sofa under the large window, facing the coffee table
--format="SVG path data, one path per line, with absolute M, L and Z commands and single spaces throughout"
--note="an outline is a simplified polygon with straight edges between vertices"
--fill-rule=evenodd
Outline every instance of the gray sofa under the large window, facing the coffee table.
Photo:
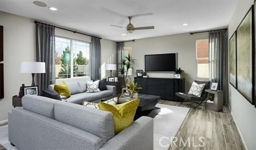
M 107 85 L 108 90 L 102 90 L 96 93 L 86 93 L 86 81 L 66 82 L 71 90 L 71 97 L 65 99 L 71 103 L 82 104 L 84 101 L 98 102 L 101 98 L 111 98 L 115 94 L 115 86 Z M 49 85 L 50 89 L 54 89 L 54 85 Z

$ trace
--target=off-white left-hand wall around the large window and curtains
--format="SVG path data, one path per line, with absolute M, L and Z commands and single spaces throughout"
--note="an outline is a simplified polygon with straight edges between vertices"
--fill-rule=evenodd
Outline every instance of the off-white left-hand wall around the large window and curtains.
M 34 20 L 0 11 L 0 25 L 3 26 L 3 59 L 5 98 L 0 99 L 0 121 L 7 119 L 7 112 L 13 107 L 12 97 L 22 84 L 31 85 L 31 74 L 20 73 L 21 61 L 35 61 Z M 90 37 L 56 29 L 56 35 L 90 42 Z M 102 64 L 115 62 L 115 42 L 101 40 Z M 105 70 L 102 74 L 108 77 Z M 104 76 L 104 77 L 105 77 Z

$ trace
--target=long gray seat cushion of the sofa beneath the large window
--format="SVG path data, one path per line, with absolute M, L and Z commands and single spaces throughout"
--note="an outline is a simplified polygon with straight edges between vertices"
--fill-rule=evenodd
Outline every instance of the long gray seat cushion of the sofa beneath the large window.
M 92 102 L 112 95 L 113 91 L 110 90 L 99 91 L 97 93 L 79 93 L 71 95 L 71 97 L 69 97 L 67 101 L 71 103 L 82 104 L 82 102 L 84 101 Z

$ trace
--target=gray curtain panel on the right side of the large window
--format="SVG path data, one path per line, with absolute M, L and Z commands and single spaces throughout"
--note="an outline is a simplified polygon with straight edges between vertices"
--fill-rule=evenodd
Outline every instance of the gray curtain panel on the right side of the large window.
M 101 79 L 101 40 L 92 37 L 90 51 L 90 79 Z

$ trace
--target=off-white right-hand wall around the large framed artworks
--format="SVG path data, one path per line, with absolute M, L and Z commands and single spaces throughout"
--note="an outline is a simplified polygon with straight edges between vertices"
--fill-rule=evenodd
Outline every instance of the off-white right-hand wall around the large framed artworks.
M 253 0 L 238 1 L 228 27 L 229 38 L 236 31 L 238 24 L 240 24 L 251 5 L 253 5 Z M 229 107 L 232 109 L 233 117 L 246 147 L 256 149 L 256 109 L 232 85 L 229 85 Z

